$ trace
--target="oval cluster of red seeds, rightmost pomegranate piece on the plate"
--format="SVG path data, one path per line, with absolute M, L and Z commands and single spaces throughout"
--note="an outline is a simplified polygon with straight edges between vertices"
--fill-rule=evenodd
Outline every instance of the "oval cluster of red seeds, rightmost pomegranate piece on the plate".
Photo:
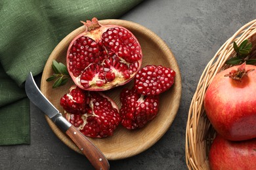
M 135 76 L 135 88 L 142 95 L 158 95 L 171 88 L 175 74 L 161 65 L 146 65 Z

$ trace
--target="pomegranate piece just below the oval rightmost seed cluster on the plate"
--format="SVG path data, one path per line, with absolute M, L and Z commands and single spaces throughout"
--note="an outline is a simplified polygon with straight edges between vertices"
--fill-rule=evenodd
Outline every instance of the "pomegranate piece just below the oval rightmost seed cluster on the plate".
M 144 127 L 158 114 L 159 95 L 141 95 L 135 88 L 125 88 L 120 95 L 121 124 L 127 129 Z

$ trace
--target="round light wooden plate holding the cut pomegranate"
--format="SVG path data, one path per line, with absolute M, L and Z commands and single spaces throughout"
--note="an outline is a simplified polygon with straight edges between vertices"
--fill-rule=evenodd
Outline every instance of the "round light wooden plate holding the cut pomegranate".
M 108 160 L 119 160 L 135 156 L 148 149 L 163 136 L 167 129 L 169 129 L 177 114 L 181 101 L 181 73 L 177 61 L 167 44 L 146 27 L 125 20 L 101 20 L 100 24 L 121 25 L 129 29 L 137 37 L 142 48 L 142 67 L 148 64 L 163 65 L 165 67 L 171 67 L 177 73 L 175 76 L 175 84 L 167 92 L 161 94 L 160 111 L 152 122 L 148 123 L 142 129 L 134 131 L 129 131 L 120 125 L 117 127 L 112 137 L 106 137 L 104 139 L 90 138 Z M 46 82 L 46 79 L 53 74 L 51 68 L 53 59 L 58 62 L 66 63 L 66 52 L 70 42 L 76 35 L 84 30 L 85 27 L 81 26 L 66 36 L 56 48 L 54 48 L 43 70 L 41 91 L 60 112 L 63 112 L 59 104 L 60 97 L 68 92 L 68 89 L 73 83 L 70 79 L 69 84 L 53 89 L 53 82 Z M 125 86 L 133 86 L 133 81 Z M 106 95 L 109 95 L 116 101 L 119 107 L 119 93 L 123 87 L 124 86 L 117 87 L 105 92 Z M 63 143 L 81 154 L 79 148 L 77 148 L 65 133 L 62 133 L 47 116 L 46 120 L 51 129 L 53 129 L 53 132 Z

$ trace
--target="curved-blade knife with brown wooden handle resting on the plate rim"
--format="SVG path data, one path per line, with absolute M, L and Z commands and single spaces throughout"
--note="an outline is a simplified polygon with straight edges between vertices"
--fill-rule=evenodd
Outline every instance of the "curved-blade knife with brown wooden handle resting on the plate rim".
M 33 75 L 30 72 L 26 79 L 25 90 L 28 98 L 34 105 L 36 105 L 40 110 L 45 112 L 54 124 L 58 126 L 66 135 L 74 141 L 78 148 L 83 152 L 87 159 L 91 162 L 95 169 L 110 169 L 110 164 L 105 158 L 104 154 L 96 148 L 96 146 L 85 137 L 77 128 L 75 128 L 62 114 L 54 107 L 54 105 L 41 93 L 35 80 L 33 80 Z

